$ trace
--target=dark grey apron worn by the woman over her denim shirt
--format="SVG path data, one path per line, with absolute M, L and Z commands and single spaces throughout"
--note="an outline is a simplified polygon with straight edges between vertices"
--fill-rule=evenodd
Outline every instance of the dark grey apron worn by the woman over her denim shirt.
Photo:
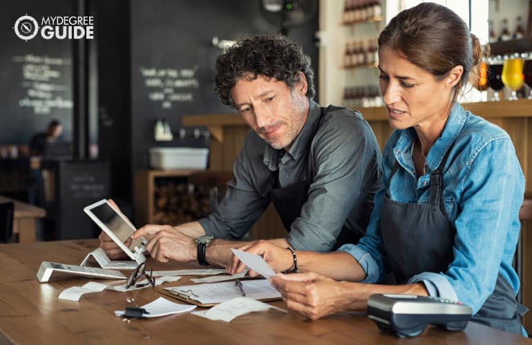
M 388 262 L 397 284 L 422 272 L 446 272 L 453 261 L 456 230 L 447 217 L 444 204 L 442 170 L 448 152 L 430 174 L 428 204 L 407 204 L 384 195 L 381 208 L 381 232 Z M 397 160 L 390 181 L 399 166 Z M 520 306 L 509 282 L 497 276 L 495 290 L 471 321 L 522 335 Z

